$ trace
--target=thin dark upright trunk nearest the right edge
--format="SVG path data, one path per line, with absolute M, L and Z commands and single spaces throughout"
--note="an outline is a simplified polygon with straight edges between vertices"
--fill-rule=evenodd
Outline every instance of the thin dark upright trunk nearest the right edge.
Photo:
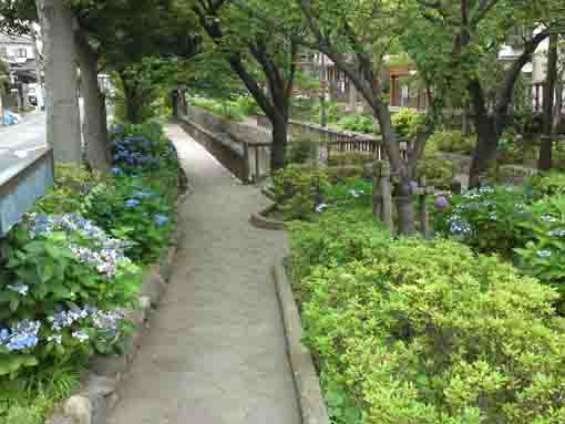
M 549 50 L 547 52 L 547 76 L 544 86 L 544 130 L 542 138 L 538 168 L 547 170 L 552 168 L 553 156 L 553 113 L 555 100 L 555 84 L 557 81 L 557 49 L 559 37 L 549 35 Z

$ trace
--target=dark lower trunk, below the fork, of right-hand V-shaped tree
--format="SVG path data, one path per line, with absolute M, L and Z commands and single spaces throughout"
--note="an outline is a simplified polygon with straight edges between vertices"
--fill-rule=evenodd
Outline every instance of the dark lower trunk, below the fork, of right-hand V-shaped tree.
M 473 152 L 469 187 L 479 187 L 481 178 L 489 170 L 489 165 L 496 157 L 499 146 L 499 134 L 494 120 L 486 115 L 476 116 L 476 147 Z

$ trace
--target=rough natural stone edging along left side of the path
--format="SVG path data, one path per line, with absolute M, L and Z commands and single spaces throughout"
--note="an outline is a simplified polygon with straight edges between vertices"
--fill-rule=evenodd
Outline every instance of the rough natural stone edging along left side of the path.
M 179 173 L 179 196 L 176 200 L 176 223 L 179 218 L 181 205 L 192 195 L 186 173 Z M 156 308 L 171 280 L 172 268 L 176 259 L 183 232 L 181 226 L 173 230 L 170 246 L 162 251 L 161 258 L 145 271 L 138 309 L 131 311 L 134 330 L 124 340 L 124 352 L 121 355 L 96 355 L 91 359 L 88 373 L 82 385 L 48 418 L 47 424 L 106 424 L 109 412 L 120 402 L 117 385 L 130 370 L 135 354 L 148 328 L 147 321 L 152 308 Z

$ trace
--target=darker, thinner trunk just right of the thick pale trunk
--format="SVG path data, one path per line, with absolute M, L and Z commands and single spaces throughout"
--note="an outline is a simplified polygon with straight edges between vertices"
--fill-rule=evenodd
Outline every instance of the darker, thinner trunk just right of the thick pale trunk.
M 84 100 L 83 136 L 86 162 L 93 169 L 106 173 L 110 169 L 110 145 L 105 99 L 99 86 L 97 56 L 82 33 L 76 34 L 76 46 Z

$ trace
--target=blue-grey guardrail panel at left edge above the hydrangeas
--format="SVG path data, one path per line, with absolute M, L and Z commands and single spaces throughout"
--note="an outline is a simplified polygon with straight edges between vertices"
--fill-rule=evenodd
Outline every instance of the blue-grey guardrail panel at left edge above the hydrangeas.
M 0 237 L 30 210 L 53 184 L 53 149 L 45 147 L 0 174 Z

